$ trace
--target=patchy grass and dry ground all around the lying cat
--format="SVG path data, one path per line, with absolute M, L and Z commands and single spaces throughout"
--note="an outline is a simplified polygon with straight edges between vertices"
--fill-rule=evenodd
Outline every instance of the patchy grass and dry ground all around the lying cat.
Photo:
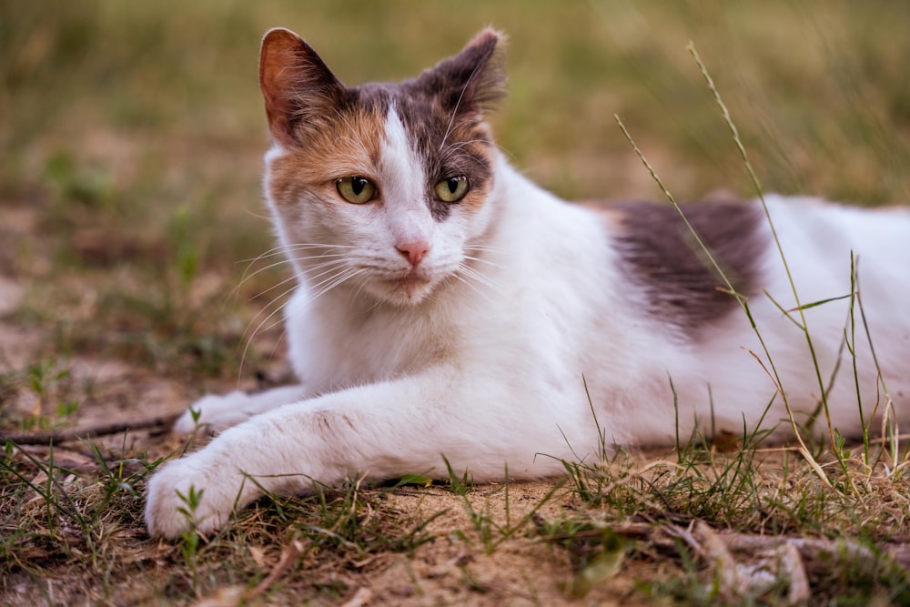
M 762 191 L 875 205 L 910 201 L 908 12 L 840 0 L 472 1 L 457 13 L 0 0 L 0 278 L 24 287 L 0 318 L 0 428 L 176 412 L 280 375 L 280 329 L 248 336 L 286 277 L 270 258 L 243 261 L 272 246 L 255 74 L 269 26 L 308 37 L 348 82 L 410 76 L 483 25 L 505 29 L 498 140 L 565 197 L 662 196 L 617 115 L 680 200 L 751 196 L 760 176 Z M 848 350 L 865 339 L 852 297 Z M 604 444 L 602 461 L 566 461 L 562 486 L 474 485 L 462 470 L 430 486 L 353 479 L 265 498 L 216 535 L 175 543 L 147 539 L 142 496 L 187 444 L 145 430 L 7 442 L 0 602 L 332 604 L 366 589 L 414 604 L 783 604 L 802 572 L 813 604 L 907 604 L 906 439 L 867 428 L 850 443 L 834 430 L 824 442 L 805 433 L 802 450 L 769 450 L 749 428 L 682 436 L 669 454 Z M 197 496 L 186 497 L 190 513 Z M 754 582 L 759 569 L 768 582 Z

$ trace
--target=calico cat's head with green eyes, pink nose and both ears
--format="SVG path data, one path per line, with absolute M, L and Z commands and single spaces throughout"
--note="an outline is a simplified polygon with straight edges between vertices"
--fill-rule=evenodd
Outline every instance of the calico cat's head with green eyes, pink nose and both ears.
M 485 30 L 412 80 L 344 86 L 298 35 L 266 34 L 266 193 L 312 288 L 403 305 L 470 278 L 493 211 L 498 155 L 484 111 L 503 94 L 501 46 Z

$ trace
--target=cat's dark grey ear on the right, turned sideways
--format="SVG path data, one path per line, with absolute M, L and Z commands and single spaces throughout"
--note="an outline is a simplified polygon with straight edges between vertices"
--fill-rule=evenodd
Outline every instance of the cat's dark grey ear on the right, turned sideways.
M 416 84 L 437 98 L 446 113 L 480 114 L 505 96 L 504 47 L 505 35 L 488 27 L 458 55 L 421 74 Z

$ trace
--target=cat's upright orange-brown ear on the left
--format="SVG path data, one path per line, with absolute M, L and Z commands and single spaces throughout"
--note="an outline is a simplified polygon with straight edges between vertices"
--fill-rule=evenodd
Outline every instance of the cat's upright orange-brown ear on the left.
M 303 38 L 288 29 L 268 30 L 259 53 L 259 87 L 268 128 L 284 145 L 294 145 L 297 126 L 338 106 L 345 87 Z

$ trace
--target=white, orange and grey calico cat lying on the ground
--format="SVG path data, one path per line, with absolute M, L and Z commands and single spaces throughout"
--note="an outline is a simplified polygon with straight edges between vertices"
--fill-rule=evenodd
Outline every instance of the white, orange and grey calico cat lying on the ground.
M 349 87 L 298 35 L 265 36 L 265 192 L 298 283 L 286 333 L 300 383 L 192 406 L 221 433 L 152 477 L 152 535 L 187 529 L 190 487 L 211 531 L 263 491 L 448 478 L 443 456 L 475 481 L 506 465 L 530 479 L 603 441 L 671 445 L 696 426 L 793 438 L 783 395 L 803 423 L 822 386 L 844 434 L 861 428 L 857 392 L 866 418 L 890 398 L 910 420 L 910 213 L 767 198 L 800 301 L 833 299 L 804 310 L 818 377 L 760 202 L 683 207 L 715 267 L 669 205 L 571 205 L 535 186 L 484 119 L 503 95 L 501 47 L 486 30 L 417 78 Z M 858 331 L 858 387 L 841 347 L 852 251 L 883 373 Z M 195 424 L 187 411 L 177 430 Z

